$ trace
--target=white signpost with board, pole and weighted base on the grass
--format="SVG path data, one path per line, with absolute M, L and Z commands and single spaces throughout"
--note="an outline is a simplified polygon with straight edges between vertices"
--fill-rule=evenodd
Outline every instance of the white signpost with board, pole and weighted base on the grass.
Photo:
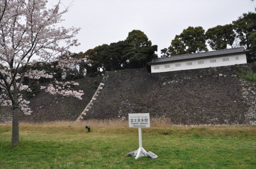
M 136 151 L 131 151 L 126 156 L 136 156 L 135 159 L 138 159 L 142 156 L 149 156 L 151 159 L 156 159 L 158 156 L 152 153 L 151 151 L 145 151 L 142 147 L 142 134 L 141 128 L 150 128 L 150 114 L 149 113 L 138 113 L 138 114 L 129 114 L 129 127 L 139 129 L 139 148 Z

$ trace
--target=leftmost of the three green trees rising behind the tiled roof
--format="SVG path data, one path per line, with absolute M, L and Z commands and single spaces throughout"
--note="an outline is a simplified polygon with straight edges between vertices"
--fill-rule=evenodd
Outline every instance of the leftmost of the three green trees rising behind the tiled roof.
M 176 35 L 169 46 L 170 55 L 183 55 L 208 51 L 203 27 L 188 27 Z

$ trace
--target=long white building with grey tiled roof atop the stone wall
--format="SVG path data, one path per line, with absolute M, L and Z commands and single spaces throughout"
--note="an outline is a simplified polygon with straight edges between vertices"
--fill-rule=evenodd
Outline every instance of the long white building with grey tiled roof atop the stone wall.
M 151 65 L 151 73 L 246 64 L 246 53 L 249 51 L 243 47 L 214 50 L 156 58 L 148 64 Z

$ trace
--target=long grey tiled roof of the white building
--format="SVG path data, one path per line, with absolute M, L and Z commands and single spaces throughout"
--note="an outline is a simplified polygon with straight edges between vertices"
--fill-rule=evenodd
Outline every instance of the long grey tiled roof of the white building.
M 213 56 L 221 56 L 221 55 L 232 55 L 232 54 L 237 54 L 237 53 L 247 53 L 249 51 L 250 50 L 245 50 L 243 47 L 222 49 L 222 50 L 213 50 L 213 51 L 209 51 L 209 52 L 177 55 L 177 56 L 170 56 L 170 57 L 164 57 L 164 58 L 155 58 L 148 64 L 158 64 L 158 63 L 164 63 L 164 62 L 173 62 L 173 61 L 178 61 L 178 60 L 197 59 L 197 58 L 213 57 Z

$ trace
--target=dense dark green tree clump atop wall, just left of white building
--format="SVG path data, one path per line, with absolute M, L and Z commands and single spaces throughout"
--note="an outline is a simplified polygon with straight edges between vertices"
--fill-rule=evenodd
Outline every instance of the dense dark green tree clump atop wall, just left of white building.
M 157 46 L 151 45 L 144 32 L 133 30 L 124 41 L 87 50 L 87 76 L 98 76 L 105 71 L 144 68 L 147 62 L 157 58 L 156 51 Z

